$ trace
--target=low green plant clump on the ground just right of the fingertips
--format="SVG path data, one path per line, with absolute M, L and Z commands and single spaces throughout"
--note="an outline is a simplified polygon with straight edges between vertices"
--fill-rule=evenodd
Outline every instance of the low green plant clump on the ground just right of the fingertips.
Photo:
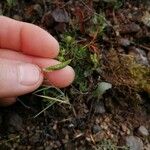
M 76 37 L 65 34 L 62 37 L 60 61 L 72 59 L 70 65 L 75 69 L 76 78 L 74 85 L 81 91 L 88 91 L 88 77 L 99 70 L 100 57 L 89 51 L 87 45 L 82 45 Z

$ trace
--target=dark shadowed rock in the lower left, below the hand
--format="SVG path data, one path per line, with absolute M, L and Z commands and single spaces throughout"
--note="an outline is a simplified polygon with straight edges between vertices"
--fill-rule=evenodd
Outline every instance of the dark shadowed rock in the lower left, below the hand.
M 15 112 L 7 114 L 4 118 L 8 132 L 21 131 L 23 129 L 22 118 Z

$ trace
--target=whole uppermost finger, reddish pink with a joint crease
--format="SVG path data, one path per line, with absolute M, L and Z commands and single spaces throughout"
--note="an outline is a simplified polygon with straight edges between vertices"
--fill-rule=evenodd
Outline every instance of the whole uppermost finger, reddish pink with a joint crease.
M 0 48 L 20 51 L 27 55 L 54 58 L 59 44 L 42 28 L 0 16 Z

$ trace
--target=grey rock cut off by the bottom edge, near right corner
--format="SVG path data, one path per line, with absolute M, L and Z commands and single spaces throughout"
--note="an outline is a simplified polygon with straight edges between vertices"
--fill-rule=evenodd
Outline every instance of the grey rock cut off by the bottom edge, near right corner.
M 143 142 L 140 138 L 136 136 L 127 136 L 126 145 L 130 150 L 143 150 Z

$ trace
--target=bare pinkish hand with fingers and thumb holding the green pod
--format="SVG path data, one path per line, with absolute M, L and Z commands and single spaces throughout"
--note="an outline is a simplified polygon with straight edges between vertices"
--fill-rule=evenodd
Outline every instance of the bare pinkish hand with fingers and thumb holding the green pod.
M 59 44 L 49 33 L 33 24 L 0 16 L 0 104 L 10 105 L 16 97 L 36 90 L 43 79 L 47 84 L 66 87 L 74 80 L 74 70 L 43 73 L 59 62 Z

